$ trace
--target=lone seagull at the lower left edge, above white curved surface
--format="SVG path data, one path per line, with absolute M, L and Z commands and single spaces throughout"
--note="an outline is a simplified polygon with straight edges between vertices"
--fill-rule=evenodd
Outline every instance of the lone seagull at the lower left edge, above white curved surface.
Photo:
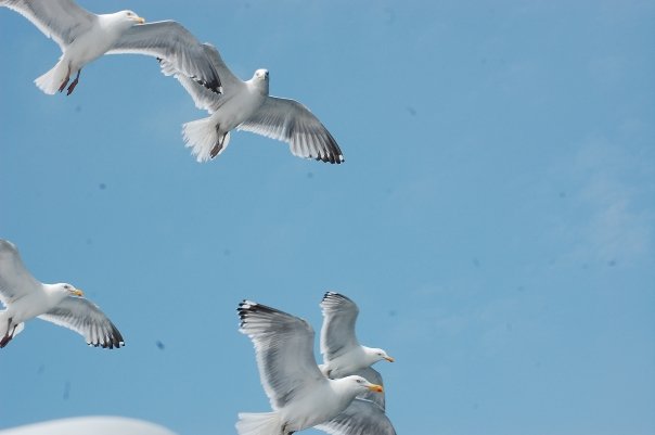
M 38 317 L 84 335 L 91 346 L 125 345 L 120 332 L 100 308 L 67 283 L 43 284 L 23 266 L 16 246 L 0 239 L 0 348 L 20 333 L 23 322 Z

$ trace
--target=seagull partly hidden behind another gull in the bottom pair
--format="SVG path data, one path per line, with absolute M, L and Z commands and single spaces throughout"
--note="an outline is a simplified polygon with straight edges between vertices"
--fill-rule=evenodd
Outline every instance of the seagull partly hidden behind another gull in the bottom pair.
M 321 372 L 331 379 L 358 374 L 382 384 L 382 375 L 371 366 L 383 359 L 394 362 L 394 358 L 383 349 L 359 344 L 355 335 L 355 322 L 359 315 L 357 305 L 339 293 L 326 292 L 321 300 L 321 311 L 323 312 L 321 328 L 323 363 L 319 366 Z M 372 400 L 385 409 L 384 395 L 367 393 L 360 397 Z

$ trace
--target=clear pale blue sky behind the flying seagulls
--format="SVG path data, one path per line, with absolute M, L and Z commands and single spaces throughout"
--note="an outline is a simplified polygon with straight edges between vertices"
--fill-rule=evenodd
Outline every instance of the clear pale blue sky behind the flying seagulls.
M 0 236 L 127 346 L 28 323 L 0 353 L 0 428 L 235 433 L 269 409 L 237 303 L 319 329 L 336 290 L 396 357 L 377 369 L 398 433 L 655 432 L 653 2 L 80 4 L 268 68 L 346 163 L 236 132 L 198 164 L 180 127 L 205 114 L 154 60 L 103 57 L 49 97 L 33 80 L 59 48 L 1 9 Z

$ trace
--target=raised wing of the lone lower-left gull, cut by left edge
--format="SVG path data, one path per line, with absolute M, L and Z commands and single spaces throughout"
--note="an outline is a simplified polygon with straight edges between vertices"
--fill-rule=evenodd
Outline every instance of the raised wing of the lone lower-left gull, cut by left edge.
M 0 302 L 11 304 L 41 285 L 23 265 L 16 246 L 0 239 Z

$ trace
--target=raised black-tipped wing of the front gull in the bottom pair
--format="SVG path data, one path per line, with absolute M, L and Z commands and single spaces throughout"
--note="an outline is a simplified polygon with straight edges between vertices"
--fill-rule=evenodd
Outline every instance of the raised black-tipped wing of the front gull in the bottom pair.
M 328 382 L 313 358 L 313 330 L 307 321 L 249 300 L 239 304 L 237 311 L 240 332 L 255 345 L 261 385 L 273 409 Z

